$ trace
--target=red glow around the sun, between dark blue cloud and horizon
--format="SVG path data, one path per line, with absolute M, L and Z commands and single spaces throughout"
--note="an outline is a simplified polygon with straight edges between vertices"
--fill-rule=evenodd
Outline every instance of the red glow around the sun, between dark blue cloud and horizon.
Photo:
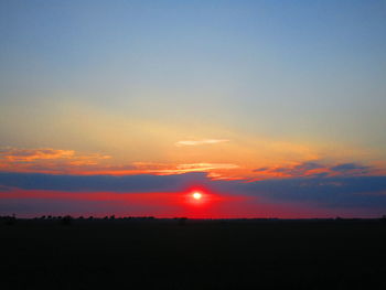
M 193 194 L 200 193 L 201 198 Z M 229 195 L 205 187 L 190 187 L 181 192 L 116 193 L 116 192 L 63 192 L 44 190 L 9 189 L 0 191 L 0 200 L 21 217 L 41 215 L 73 215 L 103 217 L 156 216 L 189 218 L 240 218 L 240 217 L 333 217 L 355 216 L 344 208 L 317 208 L 297 203 L 271 203 L 246 195 Z M 22 205 L 23 212 L 14 212 Z M 357 214 L 356 214 L 357 215 Z M 363 216 L 368 216 L 364 212 Z M 375 214 L 373 214 L 375 215 Z

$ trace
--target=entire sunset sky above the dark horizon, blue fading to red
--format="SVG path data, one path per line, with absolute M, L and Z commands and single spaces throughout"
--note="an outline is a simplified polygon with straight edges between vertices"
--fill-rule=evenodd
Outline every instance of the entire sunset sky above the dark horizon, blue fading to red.
M 1 0 L 0 64 L 0 215 L 386 214 L 384 0 Z

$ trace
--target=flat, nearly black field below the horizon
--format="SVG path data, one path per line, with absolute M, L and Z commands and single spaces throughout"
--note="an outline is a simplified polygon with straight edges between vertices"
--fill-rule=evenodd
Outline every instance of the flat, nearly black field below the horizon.
M 386 289 L 382 221 L 1 222 L 0 289 Z

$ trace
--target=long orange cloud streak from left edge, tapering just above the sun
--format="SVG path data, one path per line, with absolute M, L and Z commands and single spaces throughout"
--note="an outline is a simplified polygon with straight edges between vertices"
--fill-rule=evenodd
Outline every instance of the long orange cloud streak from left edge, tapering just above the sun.
M 79 154 L 74 150 L 57 149 L 15 149 L 0 150 L 0 172 L 34 172 L 49 174 L 156 174 L 171 175 L 189 172 L 210 172 L 239 168 L 232 163 L 154 163 L 132 162 L 131 164 L 111 164 L 105 154 Z

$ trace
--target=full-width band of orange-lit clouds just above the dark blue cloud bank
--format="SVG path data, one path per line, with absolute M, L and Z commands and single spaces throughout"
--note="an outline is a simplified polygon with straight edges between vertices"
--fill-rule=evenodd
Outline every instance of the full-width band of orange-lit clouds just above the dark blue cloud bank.
M 288 148 L 285 143 L 281 143 L 279 146 L 280 150 L 282 146 Z M 301 147 L 291 147 L 291 149 L 294 152 L 304 151 Z M 194 149 L 193 151 L 199 149 Z M 211 151 L 211 153 L 214 154 L 215 151 Z M 307 150 L 305 152 L 308 153 Z M 385 173 L 384 167 L 380 167 L 380 164 L 365 165 L 355 162 L 336 163 L 326 160 L 321 161 L 320 159 L 315 159 L 313 154 L 310 154 L 310 159 L 304 158 L 301 161 L 283 161 L 280 159 L 275 161 L 262 159 L 260 161 L 258 157 L 254 155 L 250 155 L 249 160 L 245 160 L 240 158 L 244 154 L 229 158 L 228 154 L 219 153 L 223 158 L 211 158 L 206 155 L 186 158 L 185 155 L 181 155 L 179 159 L 171 159 L 170 162 L 130 162 L 128 160 L 111 159 L 110 155 L 106 154 L 84 154 L 74 150 L 0 148 L 0 171 L 79 175 L 172 175 L 205 172 L 212 180 L 244 180 L 246 182 L 266 179 L 314 176 L 317 174 L 339 176 Z M 226 157 L 226 160 L 224 160 L 224 157 Z M 203 162 L 194 162 L 197 159 L 203 160 Z M 225 162 L 221 162 L 222 160 Z M 256 164 L 261 165 L 257 167 Z

